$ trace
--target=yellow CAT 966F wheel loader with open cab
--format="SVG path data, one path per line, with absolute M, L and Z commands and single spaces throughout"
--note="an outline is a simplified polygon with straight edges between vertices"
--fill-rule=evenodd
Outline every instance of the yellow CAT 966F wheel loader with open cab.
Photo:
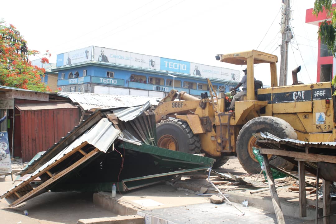
M 205 153 L 216 159 L 215 167 L 237 155 L 243 168 L 256 174 L 261 168 L 252 152 L 254 133 L 310 142 L 336 141 L 331 82 L 298 84 L 297 68 L 292 71 L 293 85 L 278 86 L 277 56 L 256 50 L 219 54 L 216 59 L 247 66 L 246 96 L 235 102 L 235 111 L 225 111 L 225 93 L 217 94 L 209 80 L 210 99 L 207 93 L 199 99 L 171 90 L 155 108 L 158 146 Z M 269 64 L 269 75 L 263 77 L 270 78 L 270 88 L 261 88 L 262 82 L 254 80 L 254 65 L 259 63 Z M 272 165 L 293 168 L 283 158 L 268 156 Z

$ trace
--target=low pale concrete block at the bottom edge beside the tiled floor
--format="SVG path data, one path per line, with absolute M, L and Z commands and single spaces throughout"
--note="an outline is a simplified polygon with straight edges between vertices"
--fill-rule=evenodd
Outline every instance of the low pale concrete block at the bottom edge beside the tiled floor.
M 144 224 L 144 218 L 139 215 L 80 219 L 77 224 Z

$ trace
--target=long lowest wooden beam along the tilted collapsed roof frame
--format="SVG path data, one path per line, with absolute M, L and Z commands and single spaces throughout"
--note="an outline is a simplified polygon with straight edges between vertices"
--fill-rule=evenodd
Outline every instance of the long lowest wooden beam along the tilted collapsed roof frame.
M 99 149 L 97 149 L 97 148 L 93 149 L 91 152 L 89 152 L 87 155 L 83 156 L 80 160 L 78 160 L 77 162 L 75 162 L 73 165 L 71 165 L 68 168 L 62 170 L 61 172 L 59 172 L 58 174 L 56 174 L 55 176 L 53 176 L 49 180 L 43 182 L 42 184 L 40 184 L 39 186 L 37 186 L 36 188 L 34 188 L 29 193 L 27 193 L 27 194 L 23 195 L 22 197 L 20 197 L 19 199 L 15 200 L 12 204 L 9 205 L 9 207 L 16 206 L 16 205 L 24 202 L 25 200 L 29 199 L 35 193 L 37 193 L 40 190 L 46 188 L 48 185 L 50 185 L 51 183 L 55 182 L 56 180 L 58 180 L 59 178 L 61 178 L 65 174 L 69 173 L 71 170 L 75 169 L 76 167 L 78 167 L 79 165 L 81 165 L 82 163 L 84 163 L 86 160 L 90 159 L 92 156 L 94 156 L 98 152 L 100 152 Z

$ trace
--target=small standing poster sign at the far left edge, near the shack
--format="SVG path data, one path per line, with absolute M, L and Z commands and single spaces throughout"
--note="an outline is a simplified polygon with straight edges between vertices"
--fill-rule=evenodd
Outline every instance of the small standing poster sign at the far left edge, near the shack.
M 0 132 L 0 175 L 10 172 L 12 172 L 12 167 L 10 165 L 8 134 L 3 131 Z

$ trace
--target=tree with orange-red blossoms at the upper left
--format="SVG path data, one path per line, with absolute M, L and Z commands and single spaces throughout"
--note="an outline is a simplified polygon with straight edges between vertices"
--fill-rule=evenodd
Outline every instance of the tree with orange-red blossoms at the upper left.
M 27 42 L 13 25 L 0 20 L 0 85 L 50 92 L 41 81 L 45 69 L 32 65 L 29 60 L 30 55 L 36 54 L 39 52 L 28 49 Z M 48 52 L 47 56 L 50 56 Z M 49 62 L 48 58 L 41 61 Z

